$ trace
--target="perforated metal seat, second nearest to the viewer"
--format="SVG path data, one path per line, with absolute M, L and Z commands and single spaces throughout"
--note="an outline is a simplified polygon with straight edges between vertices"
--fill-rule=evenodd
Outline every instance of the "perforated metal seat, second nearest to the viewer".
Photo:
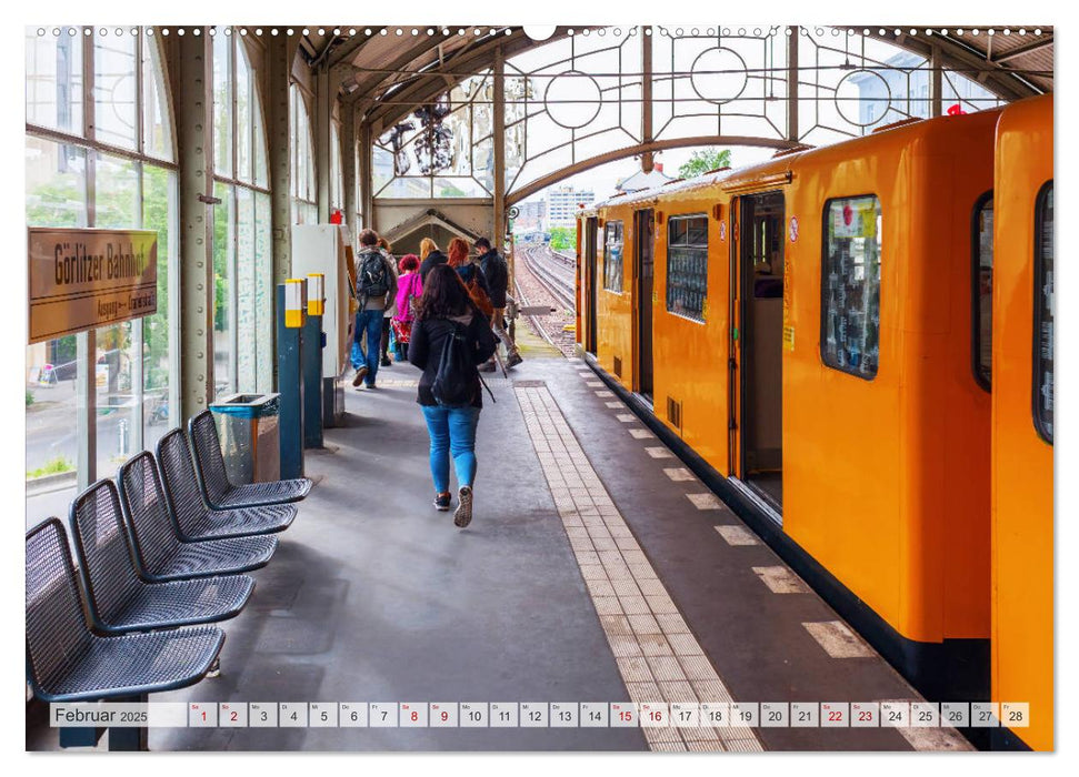
M 93 625 L 107 633 L 150 630 L 236 617 L 254 581 L 247 575 L 170 583 L 139 578 L 112 481 L 71 503 L 71 532 Z

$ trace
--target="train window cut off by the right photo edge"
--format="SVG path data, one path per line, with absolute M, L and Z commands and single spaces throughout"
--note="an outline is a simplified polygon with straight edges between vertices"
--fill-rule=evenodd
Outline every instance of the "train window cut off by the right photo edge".
M 1035 426 L 1052 444 L 1053 317 L 1052 181 L 1038 192 L 1035 204 Z

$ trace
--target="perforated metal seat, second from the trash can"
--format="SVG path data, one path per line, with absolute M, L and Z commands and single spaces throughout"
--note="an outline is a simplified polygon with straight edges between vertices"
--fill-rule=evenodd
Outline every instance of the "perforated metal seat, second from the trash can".
M 132 458 L 131 466 L 136 466 L 133 462 L 140 456 L 149 457 L 150 461 L 138 466 L 153 465 L 153 456 L 146 452 Z M 187 436 L 181 428 L 172 430 L 158 442 L 157 466 L 164 486 L 169 513 L 183 542 L 283 532 L 296 518 L 298 509 L 293 504 L 232 509 L 207 507 L 199 492 L 199 481 L 194 474 Z

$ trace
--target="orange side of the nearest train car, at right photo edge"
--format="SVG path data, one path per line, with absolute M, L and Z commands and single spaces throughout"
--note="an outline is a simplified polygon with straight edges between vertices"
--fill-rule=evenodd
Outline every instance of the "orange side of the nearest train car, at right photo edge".
M 1030 705 L 1029 727 L 1011 730 L 1037 750 L 1053 749 L 1053 451 L 1036 426 L 1033 363 L 1052 120 L 1052 97 L 1003 110 L 993 190 L 992 699 Z

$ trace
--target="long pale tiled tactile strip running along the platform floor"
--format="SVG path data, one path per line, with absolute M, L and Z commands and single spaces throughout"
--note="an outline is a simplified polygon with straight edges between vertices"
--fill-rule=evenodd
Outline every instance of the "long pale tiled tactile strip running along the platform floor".
M 629 696 L 731 702 L 550 391 L 516 387 L 532 447 Z M 597 392 L 598 393 L 598 392 Z M 642 727 L 653 750 L 762 750 L 752 728 Z

